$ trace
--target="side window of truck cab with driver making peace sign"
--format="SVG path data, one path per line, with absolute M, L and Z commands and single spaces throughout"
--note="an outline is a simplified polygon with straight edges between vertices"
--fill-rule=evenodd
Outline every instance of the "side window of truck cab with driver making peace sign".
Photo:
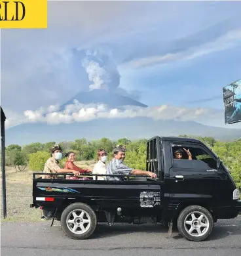
M 189 157 L 185 150 L 189 150 L 192 154 L 192 160 L 189 160 Z M 175 152 L 177 149 L 181 149 L 182 158 L 176 159 Z M 193 146 L 188 144 L 181 144 L 178 146 L 172 146 L 172 157 L 173 157 L 173 166 L 176 168 L 185 168 L 185 169 L 216 169 L 217 161 L 213 158 L 212 155 L 208 153 L 201 146 Z

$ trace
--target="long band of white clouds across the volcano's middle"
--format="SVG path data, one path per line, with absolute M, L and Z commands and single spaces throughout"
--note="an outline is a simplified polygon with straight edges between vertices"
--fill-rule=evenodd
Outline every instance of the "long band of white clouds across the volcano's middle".
M 77 100 L 66 106 L 62 112 L 56 111 L 58 106 L 40 108 L 37 111 L 26 110 L 22 115 L 14 113 L 7 114 L 6 128 L 19 125 L 21 123 L 43 122 L 48 125 L 59 123 L 84 122 L 92 119 L 122 119 L 133 117 L 150 117 L 158 120 L 174 119 L 179 121 L 205 121 L 207 119 L 220 119 L 223 112 L 206 108 L 185 108 L 177 106 L 155 106 L 148 108 L 126 106 L 124 110 L 109 109 L 103 104 L 80 104 Z

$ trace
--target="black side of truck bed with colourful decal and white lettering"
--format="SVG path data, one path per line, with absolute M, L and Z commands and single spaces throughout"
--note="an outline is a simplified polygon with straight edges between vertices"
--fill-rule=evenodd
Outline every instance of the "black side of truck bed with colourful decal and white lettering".
M 132 176 L 132 175 L 130 175 Z M 129 181 L 33 179 L 32 207 L 61 207 L 69 202 L 85 202 L 96 209 L 154 212 L 161 207 L 160 181 L 136 177 Z

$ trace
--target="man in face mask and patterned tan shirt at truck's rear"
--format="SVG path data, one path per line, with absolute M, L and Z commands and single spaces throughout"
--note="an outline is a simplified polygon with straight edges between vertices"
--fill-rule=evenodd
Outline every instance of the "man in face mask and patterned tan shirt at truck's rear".
M 45 163 L 45 169 L 43 173 L 73 173 L 75 176 L 79 176 L 79 171 L 62 169 L 58 166 L 59 160 L 62 158 L 62 148 L 59 145 L 54 145 L 51 150 L 51 158 Z M 45 175 L 44 179 L 55 179 L 56 175 Z

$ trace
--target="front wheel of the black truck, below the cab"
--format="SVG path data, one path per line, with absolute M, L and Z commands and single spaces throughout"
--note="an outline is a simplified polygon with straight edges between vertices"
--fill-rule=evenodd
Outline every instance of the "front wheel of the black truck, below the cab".
M 194 213 L 193 216 L 191 215 L 192 213 Z M 201 217 L 201 215 L 204 217 L 200 221 L 198 220 L 198 217 Z M 186 223 L 186 221 L 188 223 Z M 177 229 L 187 240 L 200 242 L 210 236 L 213 230 L 213 217 L 211 213 L 204 207 L 199 205 L 191 205 L 183 209 L 183 211 L 181 211 L 179 214 L 179 217 L 177 218 Z M 198 234 L 198 231 L 200 234 Z

